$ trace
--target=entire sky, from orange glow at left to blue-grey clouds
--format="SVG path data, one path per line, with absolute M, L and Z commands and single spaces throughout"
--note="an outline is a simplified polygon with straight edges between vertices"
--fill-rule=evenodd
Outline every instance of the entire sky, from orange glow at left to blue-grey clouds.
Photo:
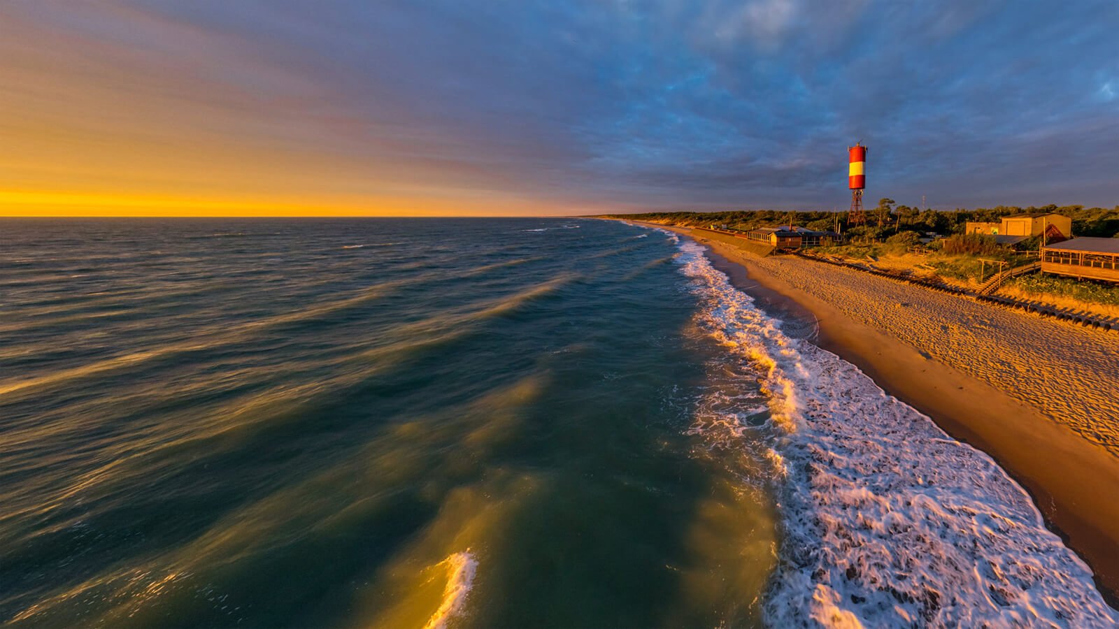
M 2 215 L 1119 204 L 1119 2 L 11 0 Z

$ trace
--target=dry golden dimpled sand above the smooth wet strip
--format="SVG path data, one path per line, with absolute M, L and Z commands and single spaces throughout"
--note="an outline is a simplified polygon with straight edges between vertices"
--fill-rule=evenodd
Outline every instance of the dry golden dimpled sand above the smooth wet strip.
M 752 262 L 1119 456 L 1119 335 L 791 256 Z

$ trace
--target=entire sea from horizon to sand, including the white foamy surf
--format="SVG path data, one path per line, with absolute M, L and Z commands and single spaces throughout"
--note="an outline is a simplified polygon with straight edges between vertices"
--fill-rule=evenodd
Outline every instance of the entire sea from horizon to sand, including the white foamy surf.
M 0 622 L 1110 627 L 1029 496 L 615 220 L 0 220 Z

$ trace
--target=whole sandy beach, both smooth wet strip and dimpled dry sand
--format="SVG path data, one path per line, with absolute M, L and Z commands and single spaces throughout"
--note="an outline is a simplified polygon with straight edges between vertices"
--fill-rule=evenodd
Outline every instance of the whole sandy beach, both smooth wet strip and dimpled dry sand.
M 1119 504 L 1109 497 L 1119 496 L 1119 336 L 696 240 L 763 308 L 815 317 L 820 347 L 995 458 L 1116 604 Z

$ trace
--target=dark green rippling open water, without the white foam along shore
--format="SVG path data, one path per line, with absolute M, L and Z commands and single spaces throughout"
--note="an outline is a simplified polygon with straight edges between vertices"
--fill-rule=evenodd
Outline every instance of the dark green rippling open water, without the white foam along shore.
M 720 348 L 665 234 L 0 229 L 0 619 L 759 618 L 772 505 L 740 451 L 689 434 Z

